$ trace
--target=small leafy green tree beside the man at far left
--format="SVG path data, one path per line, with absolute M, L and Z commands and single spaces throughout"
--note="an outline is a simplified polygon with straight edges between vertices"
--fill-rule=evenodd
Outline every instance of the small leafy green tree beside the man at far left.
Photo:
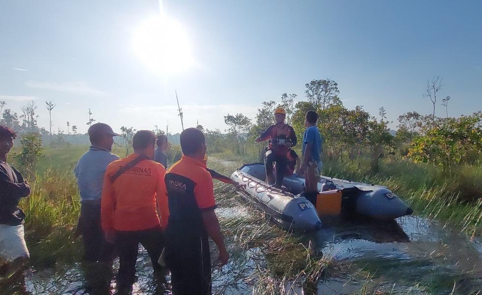
M 42 136 L 38 133 L 23 134 L 20 137 L 21 151 L 14 154 L 20 164 L 20 170 L 30 178 L 35 175 L 35 165 L 42 155 Z

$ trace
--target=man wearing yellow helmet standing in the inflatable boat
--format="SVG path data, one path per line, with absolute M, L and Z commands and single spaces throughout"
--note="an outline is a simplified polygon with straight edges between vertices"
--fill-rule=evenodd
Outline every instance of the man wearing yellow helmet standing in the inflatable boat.
M 282 108 L 277 108 L 274 111 L 274 118 L 276 124 L 271 125 L 263 134 L 261 134 L 256 141 L 262 142 L 270 140 L 268 150 L 266 151 L 266 178 L 269 184 L 276 187 L 281 187 L 284 177 L 284 168 L 287 165 L 286 154 L 288 148 L 296 145 L 296 134 L 293 127 L 285 124 L 286 112 Z M 273 181 L 273 162 L 276 162 L 276 180 Z

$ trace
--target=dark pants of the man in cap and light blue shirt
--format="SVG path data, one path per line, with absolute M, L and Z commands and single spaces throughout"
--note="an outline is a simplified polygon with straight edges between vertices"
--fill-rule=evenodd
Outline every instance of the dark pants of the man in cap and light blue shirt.
M 105 240 L 100 224 L 100 204 L 82 203 L 77 230 L 83 236 L 85 261 L 110 261 L 114 258 L 114 244 Z

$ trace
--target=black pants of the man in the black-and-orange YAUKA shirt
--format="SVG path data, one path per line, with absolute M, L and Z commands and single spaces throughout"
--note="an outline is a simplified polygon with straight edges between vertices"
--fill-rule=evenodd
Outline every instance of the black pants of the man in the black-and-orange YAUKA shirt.
M 174 231 L 172 231 L 174 232 Z M 207 235 L 166 234 L 166 263 L 174 295 L 211 294 L 211 255 Z

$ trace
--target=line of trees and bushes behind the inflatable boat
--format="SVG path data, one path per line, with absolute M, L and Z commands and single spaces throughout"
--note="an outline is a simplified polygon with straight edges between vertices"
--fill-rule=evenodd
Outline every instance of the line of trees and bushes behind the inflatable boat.
M 383 106 L 377 117 L 370 115 L 362 105 L 348 109 L 340 99 L 338 84 L 331 79 L 306 83 L 302 99 L 295 93 L 283 93 L 278 101 L 262 102 L 254 120 L 241 113 L 227 114 L 224 116 L 229 127 L 225 130 L 227 133 L 219 129 L 204 131 L 211 151 L 256 154 L 262 152 L 266 143 L 257 144 L 254 139 L 274 124 L 275 108 L 286 110 L 286 122 L 293 126 L 299 140 L 304 131 L 304 114 L 314 110 L 319 115 L 318 128 L 325 139 L 323 156 L 327 160 L 369 158 L 372 171 L 377 172 L 381 158 L 405 157 L 414 162 L 441 165 L 450 173 L 454 164 L 474 163 L 480 159 L 482 112 L 449 117 L 451 97 L 447 95 L 441 104 L 447 116 L 436 117 L 436 102 L 442 89 L 440 77 L 427 81 L 422 97 L 432 103 L 432 114 L 412 111 L 400 115 L 396 133 L 389 128 L 392 121 L 387 120 Z

